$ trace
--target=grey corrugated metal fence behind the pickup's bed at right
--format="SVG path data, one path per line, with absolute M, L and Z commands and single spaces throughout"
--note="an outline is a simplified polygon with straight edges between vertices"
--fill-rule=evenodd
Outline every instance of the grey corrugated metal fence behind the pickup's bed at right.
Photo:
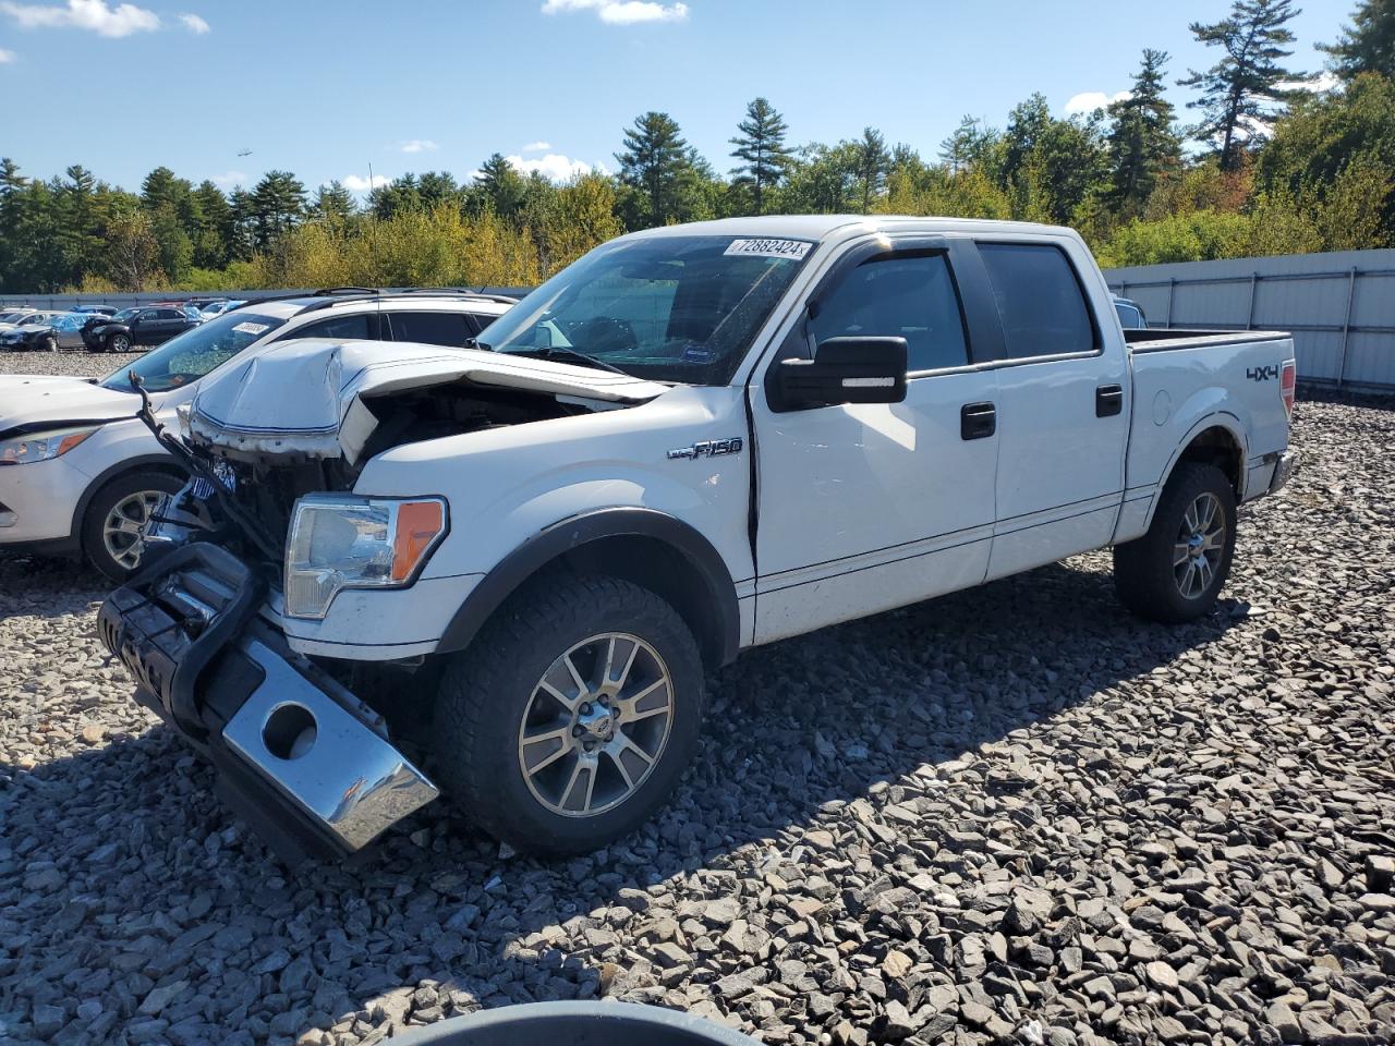
M 1395 389 L 1395 250 L 1106 269 L 1154 326 L 1290 331 L 1304 381 Z

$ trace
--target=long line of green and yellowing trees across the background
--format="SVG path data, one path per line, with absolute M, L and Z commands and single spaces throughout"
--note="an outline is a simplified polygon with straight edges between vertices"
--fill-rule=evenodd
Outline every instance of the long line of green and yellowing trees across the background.
M 1360 0 L 1318 45 L 1331 89 L 1288 64 L 1297 14 L 1235 0 L 1190 26 L 1214 66 L 1177 77 L 1144 49 L 1119 100 L 1057 117 L 1035 93 L 1002 127 L 964 117 L 933 158 L 875 127 L 794 145 L 756 98 L 727 173 L 649 112 L 615 174 L 557 184 L 494 153 L 465 181 L 403 174 L 361 204 L 282 170 L 225 194 L 156 167 L 130 192 L 81 165 L 39 180 L 0 159 L 0 291 L 533 285 L 626 230 L 760 213 L 1064 223 L 1105 265 L 1395 245 L 1395 0 Z M 1194 91 L 1186 113 L 1169 79 Z

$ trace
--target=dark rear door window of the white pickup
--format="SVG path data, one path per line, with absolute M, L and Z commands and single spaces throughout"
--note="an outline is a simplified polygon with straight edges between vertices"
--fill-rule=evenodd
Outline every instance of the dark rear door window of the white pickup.
M 1089 353 L 1095 326 L 1070 259 L 1049 244 L 979 244 L 1007 357 Z

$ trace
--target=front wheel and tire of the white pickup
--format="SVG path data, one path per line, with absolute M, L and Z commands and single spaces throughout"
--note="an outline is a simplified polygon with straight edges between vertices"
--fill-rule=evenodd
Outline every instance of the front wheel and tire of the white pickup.
M 437 770 L 515 849 L 586 854 L 667 799 L 702 708 L 702 657 L 672 607 L 615 577 L 548 573 L 446 665 Z

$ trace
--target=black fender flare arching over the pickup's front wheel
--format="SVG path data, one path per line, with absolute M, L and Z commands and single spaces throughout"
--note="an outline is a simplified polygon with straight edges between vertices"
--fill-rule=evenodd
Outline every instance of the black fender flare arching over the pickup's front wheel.
M 698 636 L 699 646 L 710 650 L 716 664 L 732 661 L 741 647 L 741 611 L 737 586 L 721 555 L 699 530 L 681 519 L 657 509 L 622 506 L 594 509 L 552 523 L 504 556 L 456 609 L 437 653 L 465 650 L 505 600 L 558 556 L 615 537 L 661 541 L 695 568 L 706 589 L 704 605 L 710 607 L 716 625 L 709 643 Z

